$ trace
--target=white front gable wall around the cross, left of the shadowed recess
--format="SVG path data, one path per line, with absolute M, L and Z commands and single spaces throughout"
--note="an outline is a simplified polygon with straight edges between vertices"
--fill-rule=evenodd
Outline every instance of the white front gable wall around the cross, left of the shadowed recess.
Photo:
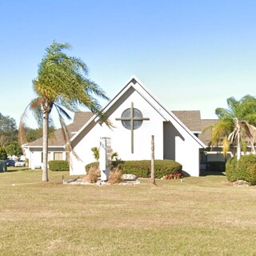
M 99 146 L 100 137 L 111 138 L 112 149 L 118 152 L 118 158 L 142 160 L 151 157 L 151 135 L 154 135 L 155 159 L 163 159 L 162 116 L 136 91 L 122 100 L 124 101 L 121 105 L 109 117 L 115 127 L 113 130 L 110 130 L 105 124 L 102 126 L 97 124 L 81 139 L 78 145 L 74 146 L 74 151 L 81 161 L 76 161 L 74 154 L 70 154 L 72 159 L 70 174 L 85 174 L 86 164 L 95 161 L 91 148 Z M 130 108 L 131 102 L 134 102 L 134 108 L 142 112 L 143 118 L 150 118 L 148 121 L 144 120 L 142 126 L 134 130 L 134 154 L 131 153 L 131 130 L 124 128 L 121 121 L 115 120 L 115 118 L 121 118 L 122 112 Z

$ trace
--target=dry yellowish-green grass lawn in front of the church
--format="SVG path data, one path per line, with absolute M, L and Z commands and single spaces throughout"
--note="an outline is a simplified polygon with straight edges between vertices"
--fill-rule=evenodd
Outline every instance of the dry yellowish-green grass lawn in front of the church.
M 16 171 L 15 171 L 16 170 Z M 225 176 L 63 185 L 0 173 L 1 255 L 256 255 L 256 188 Z

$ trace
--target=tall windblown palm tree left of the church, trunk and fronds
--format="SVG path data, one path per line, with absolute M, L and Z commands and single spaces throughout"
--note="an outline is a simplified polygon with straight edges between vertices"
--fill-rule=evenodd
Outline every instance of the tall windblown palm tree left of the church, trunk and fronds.
M 101 106 L 94 96 L 106 100 L 108 98 L 95 82 L 86 78 L 88 69 L 85 62 L 82 62 L 80 58 L 70 57 L 63 53 L 63 50 L 70 50 L 70 47 L 68 43 L 53 42 L 46 48 L 46 54 L 38 66 L 38 77 L 33 81 L 33 89 L 37 97 L 26 108 L 26 110 L 33 110 L 38 124 L 43 129 L 43 182 L 49 180 L 47 169 L 48 127 L 53 107 L 58 112 L 66 142 L 69 141 L 69 134 L 64 118 L 70 119 L 66 110 L 74 112 L 78 110 L 78 106 L 86 106 L 94 114 L 99 114 L 103 118 L 103 122 L 106 122 L 106 118 L 101 112 Z M 21 129 L 24 124 L 23 120 L 22 118 Z M 72 150 L 69 143 L 66 145 L 69 146 L 69 150 Z

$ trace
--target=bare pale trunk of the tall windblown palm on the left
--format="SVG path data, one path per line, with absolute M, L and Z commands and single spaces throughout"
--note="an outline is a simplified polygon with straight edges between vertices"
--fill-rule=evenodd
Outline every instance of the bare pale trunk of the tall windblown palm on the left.
M 42 121 L 42 182 L 48 182 L 48 124 L 49 113 L 44 111 Z

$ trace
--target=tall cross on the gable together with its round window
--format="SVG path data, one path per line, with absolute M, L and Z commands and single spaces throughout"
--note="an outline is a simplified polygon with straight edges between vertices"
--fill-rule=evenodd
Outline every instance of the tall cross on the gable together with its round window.
M 134 154 L 134 130 L 142 126 L 143 120 L 150 120 L 150 118 L 143 118 L 142 112 L 134 108 L 134 103 L 131 102 L 130 109 L 122 112 L 121 118 L 115 118 L 117 121 L 122 121 L 122 126 L 131 132 L 131 153 Z

